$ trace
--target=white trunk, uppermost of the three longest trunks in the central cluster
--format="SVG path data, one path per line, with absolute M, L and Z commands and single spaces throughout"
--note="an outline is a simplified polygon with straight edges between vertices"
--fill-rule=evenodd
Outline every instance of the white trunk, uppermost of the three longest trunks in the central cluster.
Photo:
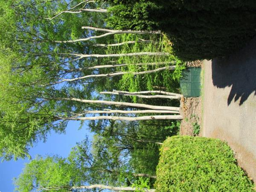
M 128 103 L 128 102 L 87 100 L 87 99 L 77 99 L 77 98 L 55 98 L 55 99 L 66 100 L 66 101 L 77 101 L 77 102 L 82 102 L 82 103 L 99 103 L 99 104 L 105 104 L 105 105 L 129 106 L 129 107 L 134 107 L 134 108 L 148 108 L 148 109 L 154 109 L 154 110 L 169 110 L 169 111 L 179 111 L 180 110 L 180 108 L 177 108 L 177 107 L 147 105 L 147 104 Z

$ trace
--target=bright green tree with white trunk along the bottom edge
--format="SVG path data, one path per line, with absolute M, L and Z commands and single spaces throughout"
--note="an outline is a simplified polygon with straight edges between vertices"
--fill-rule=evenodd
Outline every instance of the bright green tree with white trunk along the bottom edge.
M 16 190 L 28 191 L 82 191 L 83 189 L 112 189 L 135 191 L 133 186 L 109 186 L 105 184 L 90 184 L 101 181 L 109 184 L 116 181 L 102 177 L 107 175 L 119 175 L 119 171 L 109 170 L 111 164 L 100 163 L 101 160 L 94 160 L 88 151 L 88 140 L 79 143 L 71 151 L 67 159 L 58 156 L 37 157 L 27 163 L 20 176 L 15 179 Z M 107 168 L 106 168 L 107 166 Z M 106 170 L 107 169 L 107 170 Z M 99 177 L 101 176 L 101 177 Z M 118 182 L 117 182 L 118 183 Z M 87 184 L 87 185 L 86 185 Z M 89 185 L 88 185 L 89 184 Z M 145 192 L 153 192 L 154 189 L 142 188 Z

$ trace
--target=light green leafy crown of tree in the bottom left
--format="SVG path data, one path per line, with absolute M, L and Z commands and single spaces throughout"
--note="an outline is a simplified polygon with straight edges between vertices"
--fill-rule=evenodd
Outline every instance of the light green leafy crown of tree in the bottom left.
M 37 157 L 27 163 L 23 172 L 15 179 L 15 190 L 66 192 L 70 186 L 79 186 L 82 181 L 83 172 L 64 158 Z

